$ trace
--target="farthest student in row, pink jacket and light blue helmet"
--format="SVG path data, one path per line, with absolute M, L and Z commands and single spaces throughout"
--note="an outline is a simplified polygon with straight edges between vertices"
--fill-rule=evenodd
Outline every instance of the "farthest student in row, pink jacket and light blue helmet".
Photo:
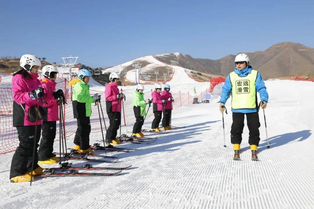
M 165 115 L 164 115 L 164 118 L 162 119 L 162 128 L 164 130 L 171 129 L 170 118 L 171 118 L 173 97 L 169 91 L 170 91 L 170 86 L 169 84 L 166 84 L 164 86 L 164 91 L 161 92 L 161 96 L 167 101 L 167 103 L 165 104 Z

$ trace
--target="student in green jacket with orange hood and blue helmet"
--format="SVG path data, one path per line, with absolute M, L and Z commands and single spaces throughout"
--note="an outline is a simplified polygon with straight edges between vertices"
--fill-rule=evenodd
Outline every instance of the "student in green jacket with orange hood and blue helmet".
M 94 154 L 94 151 L 89 146 L 89 134 L 90 134 L 90 120 L 89 117 L 92 113 L 91 103 L 100 101 L 100 95 L 97 93 L 91 97 L 89 94 L 89 78 L 92 74 L 82 69 L 78 71 L 78 78 L 69 82 L 69 86 L 73 88 L 72 105 L 73 115 L 77 120 L 78 128 L 74 137 L 74 149 L 79 153 L 90 152 Z

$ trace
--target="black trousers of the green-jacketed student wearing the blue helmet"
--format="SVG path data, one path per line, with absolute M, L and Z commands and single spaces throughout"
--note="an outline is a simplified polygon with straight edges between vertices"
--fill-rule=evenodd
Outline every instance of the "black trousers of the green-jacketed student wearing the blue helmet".
M 75 132 L 74 144 L 79 145 L 80 149 L 88 149 L 89 134 L 90 134 L 90 120 L 89 117 L 77 118 L 78 128 Z

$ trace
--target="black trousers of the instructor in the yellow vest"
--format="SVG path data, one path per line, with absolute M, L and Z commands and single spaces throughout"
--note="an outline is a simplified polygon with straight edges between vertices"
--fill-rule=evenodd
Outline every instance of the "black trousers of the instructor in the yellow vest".
M 258 112 L 240 113 L 232 112 L 232 125 L 231 125 L 231 143 L 241 144 L 242 133 L 244 128 L 244 115 L 246 115 L 247 127 L 249 128 L 249 144 L 258 146 L 259 130 L 261 126 L 259 123 Z

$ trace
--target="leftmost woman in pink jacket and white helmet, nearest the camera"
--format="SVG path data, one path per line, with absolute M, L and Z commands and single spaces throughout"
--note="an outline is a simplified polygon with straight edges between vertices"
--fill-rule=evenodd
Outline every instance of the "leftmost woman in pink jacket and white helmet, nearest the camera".
M 41 82 L 37 79 L 37 71 L 41 66 L 41 61 L 36 56 L 27 54 L 20 58 L 20 66 L 22 69 L 15 72 L 12 78 L 13 126 L 16 127 L 18 132 L 19 146 L 15 150 L 11 162 L 11 182 L 30 181 L 31 172 L 33 172 L 33 175 L 43 173 L 43 169 L 37 164 L 37 148 L 42 120 L 37 122 L 37 132 L 35 133 L 35 122 L 30 122 L 28 118 L 28 110 L 32 106 L 37 106 L 38 100 L 44 96 Z M 40 106 L 43 106 L 42 102 L 40 102 Z M 35 158 L 33 159 L 35 138 Z M 34 170 L 32 171 L 33 161 Z

